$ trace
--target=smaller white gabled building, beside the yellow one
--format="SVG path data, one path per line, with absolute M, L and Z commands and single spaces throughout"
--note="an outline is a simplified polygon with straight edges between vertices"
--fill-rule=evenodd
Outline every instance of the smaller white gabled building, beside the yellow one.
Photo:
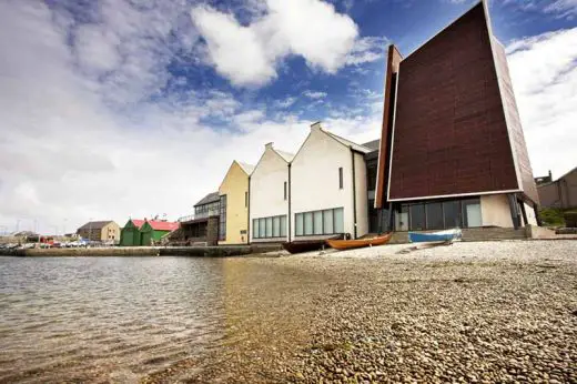
M 288 164 L 293 155 L 267 143 L 250 176 L 251 242 L 288 239 Z

